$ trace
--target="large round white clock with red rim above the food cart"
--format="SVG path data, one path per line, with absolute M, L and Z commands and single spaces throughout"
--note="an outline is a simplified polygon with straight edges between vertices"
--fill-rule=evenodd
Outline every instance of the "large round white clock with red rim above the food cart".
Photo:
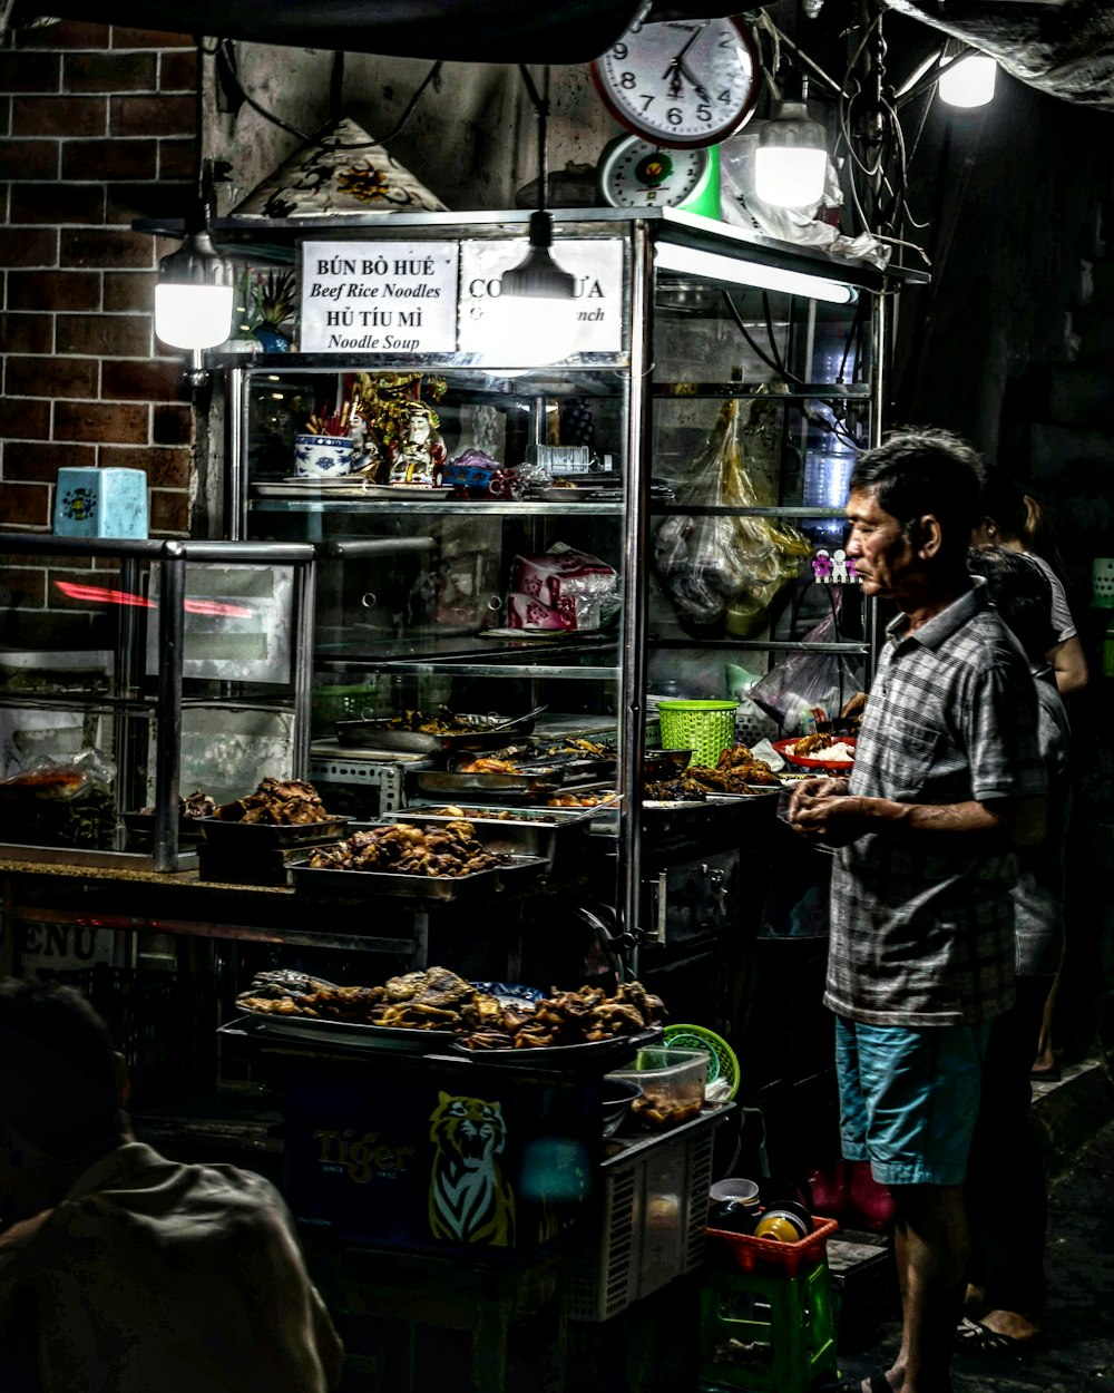
M 668 149 L 716 145 L 738 131 L 758 98 L 758 53 L 734 18 L 632 25 L 592 63 L 611 116 Z

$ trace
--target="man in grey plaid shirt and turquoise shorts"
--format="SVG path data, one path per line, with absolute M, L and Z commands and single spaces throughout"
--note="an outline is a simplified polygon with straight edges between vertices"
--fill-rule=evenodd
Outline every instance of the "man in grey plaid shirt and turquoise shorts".
M 808 780 L 790 822 L 836 847 L 824 1004 L 844 1156 L 894 1198 L 893 1365 L 855 1389 L 944 1393 L 969 1250 L 964 1183 L 990 1022 L 1014 1000 L 1014 851 L 1044 830 L 1023 655 L 966 570 L 979 460 L 933 429 L 851 476 L 847 552 L 898 616 L 849 779 Z

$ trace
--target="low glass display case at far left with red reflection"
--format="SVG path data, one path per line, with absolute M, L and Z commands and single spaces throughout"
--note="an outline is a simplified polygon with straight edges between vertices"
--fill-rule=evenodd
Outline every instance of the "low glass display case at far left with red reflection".
M 304 776 L 312 546 L 1 550 L 0 855 L 175 871 L 196 816 Z

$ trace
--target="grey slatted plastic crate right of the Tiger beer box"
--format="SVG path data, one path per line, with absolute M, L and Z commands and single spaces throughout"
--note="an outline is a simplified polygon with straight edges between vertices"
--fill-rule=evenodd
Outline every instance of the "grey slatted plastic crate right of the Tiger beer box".
M 570 1256 L 568 1315 L 609 1321 L 699 1268 L 716 1127 L 734 1105 L 625 1145 L 599 1172 L 596 1212 Z

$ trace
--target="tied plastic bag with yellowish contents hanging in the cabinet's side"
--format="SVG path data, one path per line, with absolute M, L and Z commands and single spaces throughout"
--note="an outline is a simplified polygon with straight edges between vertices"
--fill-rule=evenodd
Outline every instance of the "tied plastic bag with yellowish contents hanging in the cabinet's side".
M 677 488 L 677 503 L 758 507 L 742 446 L 738 401 L 727 401 Z M 673 514 L 654 536 L 654 570 L 678 617 L 702 628 L 724 624 L 739 635 L 759 627 L 810 554 L 797 528 L 764 517 Z

